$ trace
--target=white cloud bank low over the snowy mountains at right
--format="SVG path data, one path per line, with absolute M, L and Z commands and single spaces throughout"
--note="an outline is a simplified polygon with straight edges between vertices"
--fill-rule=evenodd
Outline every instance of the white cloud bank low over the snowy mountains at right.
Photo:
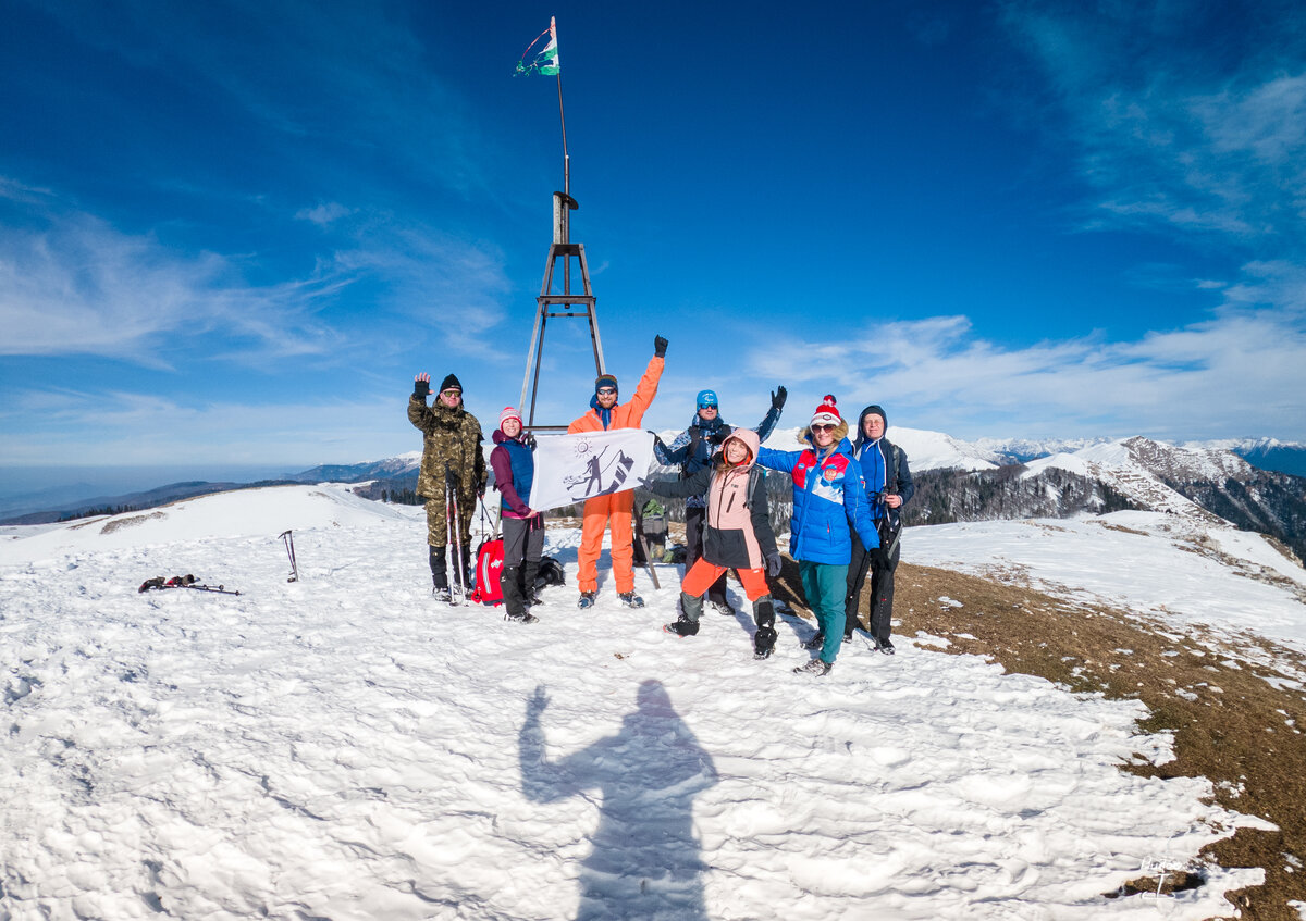
M 904 425 L 964 437 L 1306 440 L 1306 271 L 1250 265 L 1224 296 L 1211 318 L 1132 342 L 1091 335 L 1011 348 L 976 335 L 965 317 L 931 317 L 759 351 L 751 367 L 791 390 L 831 387 L 858 407 L 892 406 Z M 1297 309 L 1259 309 L 1267 301 Z

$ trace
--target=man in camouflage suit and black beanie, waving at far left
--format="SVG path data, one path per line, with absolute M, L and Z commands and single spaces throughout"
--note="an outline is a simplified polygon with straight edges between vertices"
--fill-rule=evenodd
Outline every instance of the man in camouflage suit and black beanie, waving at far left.
M 417 479 L 417 494 L 426 500 L 426 530 L 430 545 L 431 582 L 436 596 L 449 597 L 445 547 L 451 539 L 462 544 L 461 570 L 454 566 L 454 578 L 464 574 L 464 587 L 470 590 L 471 518 L 477 497 L 486 489 L 486 459 L 481 451 L 481 423 L 462 407 L 462 385 L 449 374 L 440 385 L 439 395 L 426 404 L 431 393 L 431 376 L 422 373 L 414 378 L 409 398 L 409 421 L 422 430 L 422 467 Z M 445 483 L 452 475 L 458 502 L 458 534 L 449 532 L 445 518 Z

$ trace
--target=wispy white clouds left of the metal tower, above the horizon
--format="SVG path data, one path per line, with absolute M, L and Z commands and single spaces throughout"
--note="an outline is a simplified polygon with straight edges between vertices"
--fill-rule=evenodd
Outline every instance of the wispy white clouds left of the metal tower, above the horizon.
M 368 340 L 423 330 L 448 347 L 492 356 L 486 334 L 502 322 L 500 301 L 512 287 L 491 244 L 342 206 L 306 213 L 350 217 L 346 245 L 326 247 L 300 278 L 259 286 L 244 280 L 244 258 L 178 252 L 13 180 L 0 183 L 0 209 L 5 202 L 22 209 L 22 222 L 0 224 L 3 355 L 166 365 L 165 344 L 202 342 L 208 356 L 236 361 L 340 357 L 363 346 L 358 322 L 346 331 L 323 314 L 349 301 L 366 317 Z

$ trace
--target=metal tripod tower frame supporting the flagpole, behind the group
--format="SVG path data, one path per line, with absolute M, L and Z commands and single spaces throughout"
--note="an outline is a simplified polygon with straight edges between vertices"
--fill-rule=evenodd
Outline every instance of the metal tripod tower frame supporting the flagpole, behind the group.
M 594 290 L 589 286 L 589 265 L 585 262 L 585 244 L 571 241 L 571 213 L 580 205 L 567 192 L 554 192 L 554 241 L 549 247 L 549 261 L 545 262 L 545 282 L 535 297 L 535 329 L 530 334 L 530 350 L 526 352 L 526 376 L 521 382 L 521 411 L 525 414 L 528 429 L 537 432 L 562 432 L 565 425 L 537 425 L 535 397 L 539 391 L 539 364 L 545 354 L 545 327 L 554 317 L 576 317 L 589 321 L 589 338 L 594 344 L 596 374 L 606 372 L 603 365 L 603 343 L 598 338 L 598 317 L 594 314 Z M 573 292 L 572 260 L 580 266 L 580 280 L 584 294 Z M 554 291 L 554 271 L 558 260 L 563 261 L 563 290 Z M 526 391 L 530 402 L 526 402 Z

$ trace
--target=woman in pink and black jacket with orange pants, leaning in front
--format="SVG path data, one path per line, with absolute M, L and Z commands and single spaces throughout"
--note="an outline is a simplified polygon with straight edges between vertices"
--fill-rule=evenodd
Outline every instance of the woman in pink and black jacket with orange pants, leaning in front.
M 776 608 L 767 575 L 780 574 L 780 551 L 767 515 L 765 471 L 754 466 L 757 446 L 756 432 L 735 429 L 710 466 L 684 480 L 653 480 L 646 487 L 670 498 L 704 496 L 707 500 L 703 556 L 680 582 L 680 617 L 663 629 L 678 637 L 697 635 L 703 594 L 733 569 L 752 601 L 757 625 L 754 656 L 765 659 L 776 647 Z

